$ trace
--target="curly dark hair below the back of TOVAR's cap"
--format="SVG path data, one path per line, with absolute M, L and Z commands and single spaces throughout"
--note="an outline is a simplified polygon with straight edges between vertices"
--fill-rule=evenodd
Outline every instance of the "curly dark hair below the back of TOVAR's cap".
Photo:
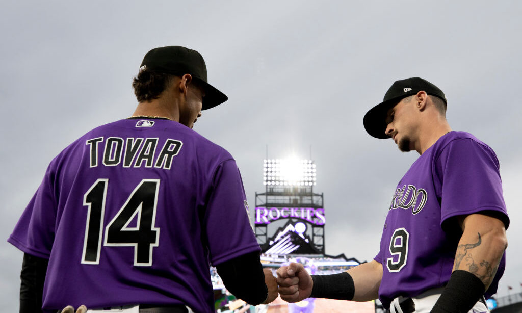
M 140 71 L 138 76 L 134 77 L 132 81 L 132 88 L 138 102 L 158 99 L 174 77 L 174 75 L 166 73 L 151 73 L 147 70 Z

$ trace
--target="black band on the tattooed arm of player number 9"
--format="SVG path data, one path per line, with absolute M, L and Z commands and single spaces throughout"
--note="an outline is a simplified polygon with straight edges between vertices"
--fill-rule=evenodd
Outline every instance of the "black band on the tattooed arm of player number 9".
M 468 312 L 485 292 L 482 281 L 474 274 L 456 270 L 431 310 L 432 313 Z

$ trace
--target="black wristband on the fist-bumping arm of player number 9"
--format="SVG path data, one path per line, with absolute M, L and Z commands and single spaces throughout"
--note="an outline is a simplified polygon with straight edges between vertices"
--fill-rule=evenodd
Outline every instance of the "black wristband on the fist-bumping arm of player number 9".
M 355 292 L 353 279 L 347 272 L 331 275 L 312 275 L 314 286 L 311 298 L 351 300 Z

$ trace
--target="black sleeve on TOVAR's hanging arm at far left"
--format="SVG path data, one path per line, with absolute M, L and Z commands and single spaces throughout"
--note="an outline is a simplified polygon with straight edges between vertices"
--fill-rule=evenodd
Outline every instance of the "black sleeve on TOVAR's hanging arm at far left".
M 23 254 L 20 273 L 20 313 L 42 312 L 43 282 L 49 260 Z

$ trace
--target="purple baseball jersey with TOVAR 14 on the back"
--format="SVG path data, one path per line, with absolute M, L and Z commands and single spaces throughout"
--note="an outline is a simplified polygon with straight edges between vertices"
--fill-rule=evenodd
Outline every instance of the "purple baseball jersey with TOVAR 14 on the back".
M 209 265 L 260 251 L 232 156 L 166 119 L 123 119 L 73 142 L 8 242 L 49 259 L 44 309 L 213 312 Z

